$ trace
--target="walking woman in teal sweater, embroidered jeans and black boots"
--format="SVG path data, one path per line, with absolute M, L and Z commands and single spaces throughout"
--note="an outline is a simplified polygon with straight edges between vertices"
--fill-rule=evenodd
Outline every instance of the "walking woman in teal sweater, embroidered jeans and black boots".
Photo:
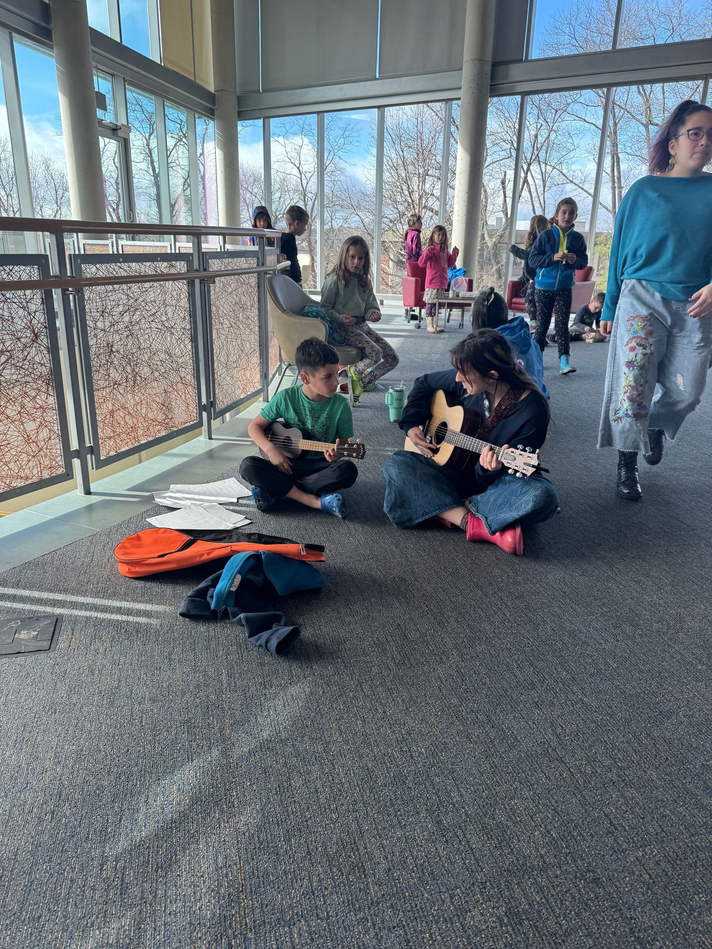
M 616 491 L 636 501 L 638 452 L 663 457 L 699 404 L 712 355 L 712 109 L 681 102 L 621 201 L 601 332 L 610 333 L 598 447 L 618 449 Z M 656 388 L 657 386 L 657 388 Z

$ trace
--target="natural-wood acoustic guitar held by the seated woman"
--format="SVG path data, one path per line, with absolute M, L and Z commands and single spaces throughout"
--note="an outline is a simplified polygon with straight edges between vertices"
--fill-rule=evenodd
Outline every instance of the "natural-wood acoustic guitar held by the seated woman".
M 539 453 L 531 448 L 517 445 L 516 448 L 500 448 L 487 441 L 481 441 L 477 436 L 482 417 L 473 409 L 462 408 L 461 405 L 450 405 L 445 393 L 436 392 L 430 402 L 430 419 L 423 428 L 425 437 L 429 438 L 431 448 L 435 451 L 433 461 L 443 468 L 453 471 L 463 471 L 470 464 L 477 463 L 476 455 L 484 448 L 492 448 L 509 474 L 517 477 L 529 477 L 535 471 L 546 471 L 539 463 Z M 405 438 L 403 446 L 406 452 L 417 452 L 418 449 L 410 440 Z

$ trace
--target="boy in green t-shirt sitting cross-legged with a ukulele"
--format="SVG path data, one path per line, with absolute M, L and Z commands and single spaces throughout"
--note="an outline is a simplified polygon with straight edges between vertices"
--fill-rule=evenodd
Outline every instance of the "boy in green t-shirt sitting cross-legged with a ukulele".
M 353 461 L 336 452 L 303 453 L 288 458 L 265 435 L 272 421 L 283 419 L 302 437 L 338 444 L 353 437 L 348 400 L 337 395 L 339 357 L 333 346 L 315 337 L 297 346 L 295 363 L 301 385 L 278 392 L 247 428 L 247 434 L 267 458 L 250 456 L 240 465 L 240 476 L 253 485 L 259 511 L 267 511 L 280 497 L 290 497 L 308 508 L 346 517 L 341 488 L 350 488 L 358 470 Z

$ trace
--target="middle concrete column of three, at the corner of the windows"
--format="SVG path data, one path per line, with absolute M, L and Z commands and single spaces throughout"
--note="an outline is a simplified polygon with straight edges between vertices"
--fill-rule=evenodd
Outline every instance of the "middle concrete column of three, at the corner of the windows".
M 217 220 L 240 226 L 240 164 L 237 155 L 237 61 L 233 0 L 211 0 Z

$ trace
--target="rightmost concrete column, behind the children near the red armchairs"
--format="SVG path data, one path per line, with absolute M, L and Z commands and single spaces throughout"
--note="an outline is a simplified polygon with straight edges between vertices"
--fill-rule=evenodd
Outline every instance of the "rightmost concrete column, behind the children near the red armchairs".
M 478 262 L 495 8 L 496 0 L 467 0 L 452 244 L 460 250 L 458 265 L 471 277 L 476 275 Z

